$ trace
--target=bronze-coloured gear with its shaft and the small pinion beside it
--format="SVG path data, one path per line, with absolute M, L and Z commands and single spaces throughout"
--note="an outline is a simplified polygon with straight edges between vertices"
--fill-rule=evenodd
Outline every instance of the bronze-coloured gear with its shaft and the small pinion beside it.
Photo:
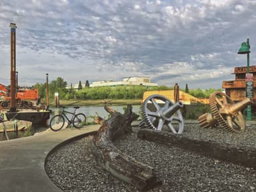
M 213 127 L 217 124 L 227 131 L 244 131 L 245 119 L 241 113 L 247 105 L 251 103 L 246 98 L 239 103 L 234 103 L 227 95 L 221 91 L 215 91 L 209 97 L 211 113 L 205 113 L 198 118 L 201 127 Z

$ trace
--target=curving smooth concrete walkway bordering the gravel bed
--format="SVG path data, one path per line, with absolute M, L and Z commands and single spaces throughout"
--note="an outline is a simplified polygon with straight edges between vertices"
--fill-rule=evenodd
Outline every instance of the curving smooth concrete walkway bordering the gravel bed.
M 100 125 L 81 129 L 44 131 L 31 137 L 0 141 L 0 191 L 61 191 L 45 172 L 45 159 L 57 145 L 97 131 Z

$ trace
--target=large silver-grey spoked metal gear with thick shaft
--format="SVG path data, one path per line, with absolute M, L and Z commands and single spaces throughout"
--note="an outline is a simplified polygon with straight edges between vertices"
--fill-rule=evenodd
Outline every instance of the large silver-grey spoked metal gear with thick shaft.
M 183 117 L 179 109 L 183 107 L 181 101 L 172 103 L 162 95 L 151 95 L 141 106 L 143 121 L 141 128 L 171 129 L 173 133 L 181 134 L 184 129 Z

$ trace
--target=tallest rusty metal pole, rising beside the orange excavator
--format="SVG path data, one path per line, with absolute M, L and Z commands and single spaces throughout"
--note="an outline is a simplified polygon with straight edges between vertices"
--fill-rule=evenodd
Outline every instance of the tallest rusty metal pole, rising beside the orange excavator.
M 11 108 L 10 112 L 16 111 L 16 24 L 11 23 Z

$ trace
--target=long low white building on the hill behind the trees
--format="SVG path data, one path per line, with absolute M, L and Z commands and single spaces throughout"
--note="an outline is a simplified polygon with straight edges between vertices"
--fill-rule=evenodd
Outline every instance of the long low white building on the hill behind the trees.
M 143 85 L 143 86 L 157 86 L 157 83 L 150 83 L 149 77 L 128 77 L 123 81 L 94 81 L 90 87 L 99 86 L 115 86 L 115 85 Z

